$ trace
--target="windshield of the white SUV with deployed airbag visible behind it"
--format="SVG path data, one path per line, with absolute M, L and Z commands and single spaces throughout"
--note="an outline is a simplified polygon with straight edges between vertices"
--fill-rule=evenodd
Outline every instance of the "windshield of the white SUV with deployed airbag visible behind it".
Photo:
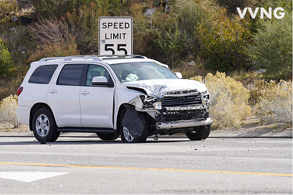
M 176 75 L 154 62 L 128 62 L 111 64 L 121 83 L 149 79 L 178 79 Z

